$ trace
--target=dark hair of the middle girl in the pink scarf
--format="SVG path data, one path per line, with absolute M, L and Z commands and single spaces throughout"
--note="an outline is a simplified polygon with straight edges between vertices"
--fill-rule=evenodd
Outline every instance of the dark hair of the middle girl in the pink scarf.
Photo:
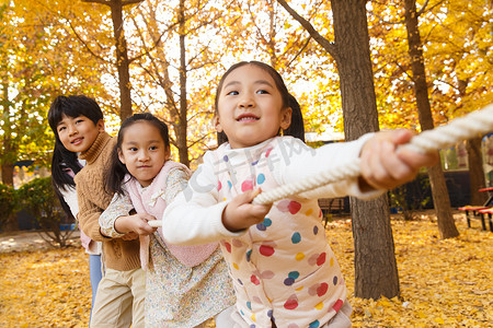
M 161 134 L 162 140 L 164 141 L 164 147 L 167 149 L 170 149 L 170 134 L 168 132 L 168 126 L 153 116 L 150 113 L 142 113 L 142 114 L 134 114 L 133 116 L 125 119 L 119 128 L 118 137 L 116 137 L 116 144 L 115 148 L 112 151 L 112 159 L 111 159 L 111 165 L 108 168 L 108 172 L 106 174 L 106 191 L 108 194 L 119 194 L 123 195 L 123 188 L 122 183 L 124 183 L 124 178 L 126 174 L 130 174 L 118 159 L 118 150 L 122 149 L 122 143 L 125 134 L 125 130 L 138 121 L 147 121 L 150 125 L 153 125 L 156 128 L 158 128 L 159 133 Z

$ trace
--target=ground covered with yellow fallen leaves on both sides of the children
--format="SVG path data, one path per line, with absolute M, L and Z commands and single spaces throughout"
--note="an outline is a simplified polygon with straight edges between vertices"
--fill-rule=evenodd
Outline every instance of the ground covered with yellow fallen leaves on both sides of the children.
M 328 224 L 354 307 L 354 327 L 488 327 L 493 323 L 493 233 L 457 215 L 458 238 L 442 241 L 433 215 L 392 220 L 401 296 L 353 296 L 349 220 Z M 87 327 L 88 256 L 79 247 L 0 254 L 0 327 Z M 211 325 L 210 327 L 214 327 Z

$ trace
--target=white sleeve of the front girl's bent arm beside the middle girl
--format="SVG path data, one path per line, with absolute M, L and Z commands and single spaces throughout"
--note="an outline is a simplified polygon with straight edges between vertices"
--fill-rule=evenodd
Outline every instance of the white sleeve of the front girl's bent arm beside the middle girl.
M 232 233 L 222 224 L 222 211 L 228 202 L 218 199 L 217 178 L 213 165 L 208 164 L 209 157 L 210 153 L 206 153 L 204 164 L 163 213 L 162 233 L 170 244 L 207 244 L 245 232 Z

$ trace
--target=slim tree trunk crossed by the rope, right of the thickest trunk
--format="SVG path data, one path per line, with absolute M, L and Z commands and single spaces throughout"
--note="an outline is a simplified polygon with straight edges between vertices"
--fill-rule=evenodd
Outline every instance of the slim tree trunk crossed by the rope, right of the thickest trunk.
M 405 27 L 408 30 L 409 54 L 413 72 L 414 93 L 422 130 L 434 128 L 432 108 L 428 98 L 428 86 L 423 58 L 423 46 L 417 25 L 417 12 L 415 0 L 405 0 Z M 442 238 L 450 238 L 459 235 L 450 208 L 447 185 L 445 184 L 442 165 L 435 165 L 428 169 L 432 186 L 433 201 L 438 221 L 438 231 Z

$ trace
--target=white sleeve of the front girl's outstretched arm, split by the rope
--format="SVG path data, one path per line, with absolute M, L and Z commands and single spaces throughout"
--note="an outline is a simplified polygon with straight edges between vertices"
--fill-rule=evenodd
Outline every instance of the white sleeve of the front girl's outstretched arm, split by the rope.
M 372 133 L 367 133 L 358 140 L 349 142 L 336 142 L 312 149 L 296 138 L 285 138 L 273 150 L 271 156 L 279 159 L 280 169 L 274 172 L 274 176 L 280 186 L 320 175 L 322 172 L 354 163 L 359 157 L 363 145 Z M 348 178 L 335 184 L 321 186 L 316 190 L 303 192 L 299 196 L 306 198 L 334 198 L 354 196 L 360 199 L 369 199 L 380 196 L 385 190 L 362 191 L 358 178 Z

